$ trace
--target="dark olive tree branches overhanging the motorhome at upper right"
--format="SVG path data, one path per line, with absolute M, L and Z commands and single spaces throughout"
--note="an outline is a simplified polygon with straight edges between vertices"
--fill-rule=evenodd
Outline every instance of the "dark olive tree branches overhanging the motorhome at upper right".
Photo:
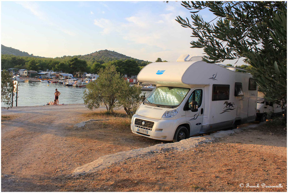
M 192 21 L 176 21 L 192 30 L 191 48 L 203 48 L 209 63 L 244 57 L 251 65 L 265 98 L 281 101 L 287 97 L 287 5 L 278 2 L 182 2 Z M 204 21 L 197 13 L 209 9 L 215 18 Z

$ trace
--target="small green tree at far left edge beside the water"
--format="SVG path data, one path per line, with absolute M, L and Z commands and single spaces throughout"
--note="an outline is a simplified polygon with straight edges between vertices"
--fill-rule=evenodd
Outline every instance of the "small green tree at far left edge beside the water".
M 1 102 L 4 102 L 8 107 L 12 106 L 13 80 L 12 73 L 7 70 L 1 72 Z

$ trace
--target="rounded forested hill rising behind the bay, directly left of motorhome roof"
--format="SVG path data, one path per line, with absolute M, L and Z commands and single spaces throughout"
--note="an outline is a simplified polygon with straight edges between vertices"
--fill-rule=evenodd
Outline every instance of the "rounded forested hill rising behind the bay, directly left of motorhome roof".
M 86 55 L 62 56 L 59 58 L 64 59 L 64 60 L 65 59 L 70 60 L 73 57 L 77 57 L 82 60 L 90 61 L 91 63 L 94 63 L 94 61 L 97 61 L 97 60 L 101 60 L 104 62 L 108 62 L 112 60 L 136 60 L 139 64 L 141 64 L 142 62 L 145 62 L 144 60 L 132 58 L 130 56 L 126 56 L 124 54 L 120 54 L 118 52 L 110 51 L 110 50 L 100 50 L 98 52 L 96 51 L 96 52 L 93 52 L 91 54 L 86 54 Z

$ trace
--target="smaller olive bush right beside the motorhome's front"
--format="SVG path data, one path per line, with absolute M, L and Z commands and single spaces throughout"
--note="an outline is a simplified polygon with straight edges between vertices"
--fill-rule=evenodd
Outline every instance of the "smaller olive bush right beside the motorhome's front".
M 121 87 L 121 94 L 118 97 L 117 105 L 124 107 L 127 115 L 132 118 L 133 113 L 139 107 L 141 100 L 140 97 L 141 88 L 136 86 L 130 86 L 130 83 L 125 81 Z

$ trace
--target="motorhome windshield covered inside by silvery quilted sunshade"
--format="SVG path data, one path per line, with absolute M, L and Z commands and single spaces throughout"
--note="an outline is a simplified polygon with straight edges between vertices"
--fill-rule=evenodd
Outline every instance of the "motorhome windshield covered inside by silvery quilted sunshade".
M 180 105 L 189 90 L 189 88 L 157 86 L 145 99 L 144 104 L 175 108 Z

